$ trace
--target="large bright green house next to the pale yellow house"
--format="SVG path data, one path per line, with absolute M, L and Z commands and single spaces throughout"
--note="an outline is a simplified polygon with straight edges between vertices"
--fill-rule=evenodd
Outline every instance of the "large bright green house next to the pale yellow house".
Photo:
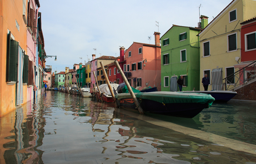
M 183 76 L 182 91 L 199 90 L 202 29 L 173 25 L 161 38 L 161 91 L 170 91 L 170 78 Z M 177 85 L 176 81 L 172 81 Z M 178 90 L 178 85 L 177 85 Z

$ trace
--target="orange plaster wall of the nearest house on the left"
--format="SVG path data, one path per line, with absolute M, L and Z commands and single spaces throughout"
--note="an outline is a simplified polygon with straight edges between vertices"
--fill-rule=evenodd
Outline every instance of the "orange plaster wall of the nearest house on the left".
M 27 54 L 27 27 L 22 18 L 22 3 L 22 1 L 0 1 L 0 117 L 16 108 L 16 84 L 8 85 L 6 82 L 8 29 Z M 19 31 L 16 28 L 16 20 L 19 24 Z

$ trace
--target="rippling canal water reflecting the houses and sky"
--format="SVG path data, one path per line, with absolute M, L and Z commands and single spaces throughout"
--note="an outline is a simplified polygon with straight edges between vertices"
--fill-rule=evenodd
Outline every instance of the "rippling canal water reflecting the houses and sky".
M 47 91 L 0 118 L 0 163 L 256 163 L 256 103 L 193 119 L 139 115 Z

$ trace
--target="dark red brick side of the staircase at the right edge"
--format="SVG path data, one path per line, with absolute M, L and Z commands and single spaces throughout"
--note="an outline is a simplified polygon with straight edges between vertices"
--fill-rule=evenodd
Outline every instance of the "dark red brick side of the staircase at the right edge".
M 233 99 L 256 100 L 256 81 L 237 89 L 237 96 Z

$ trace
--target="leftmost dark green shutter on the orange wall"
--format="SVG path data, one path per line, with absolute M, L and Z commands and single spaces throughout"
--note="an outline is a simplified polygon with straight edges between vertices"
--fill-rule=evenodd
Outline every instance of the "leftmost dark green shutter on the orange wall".
M 8 81 L 17 82 L 17 79 L 18 79 L 18 52 L 19 52 L 18 41 L 11 40 L 10 53 L 9 53 Z

